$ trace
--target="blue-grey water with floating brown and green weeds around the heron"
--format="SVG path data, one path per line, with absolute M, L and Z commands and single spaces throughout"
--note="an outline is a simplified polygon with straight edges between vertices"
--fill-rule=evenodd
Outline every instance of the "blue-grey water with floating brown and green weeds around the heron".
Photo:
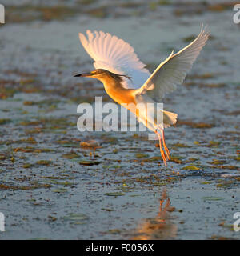
M 232 7 L 71 1 L 63 11 L 57 3 L 6 3 L 0 26 L 0 238 L 238 239 L 240 46 Z M 93 69 L 78 32 L 118 35 L 153 71 L 202 22 L 211 38 L 164 100 L 178 113 L 166 130 L 167 167 L 146 133 L 78 131 L 79 103 L 111 102 L 99 82 L 73 78 Z M 90 140 L 98 146 L 81 146 Z

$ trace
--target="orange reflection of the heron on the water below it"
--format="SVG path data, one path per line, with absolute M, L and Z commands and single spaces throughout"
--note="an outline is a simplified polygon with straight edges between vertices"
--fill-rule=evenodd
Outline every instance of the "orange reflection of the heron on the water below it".
M 170 206 L 170 198 L 166 193 L 166 188 L 162 191 L 162 197 L 159 199 L 159 212 L 156 218 L 148 218 L 142 222 L 132 239 L 134 240 L 161 240 L 171 239 L 177 234 L 177 225 L 171 220 L 171 212 L 175 210 Z

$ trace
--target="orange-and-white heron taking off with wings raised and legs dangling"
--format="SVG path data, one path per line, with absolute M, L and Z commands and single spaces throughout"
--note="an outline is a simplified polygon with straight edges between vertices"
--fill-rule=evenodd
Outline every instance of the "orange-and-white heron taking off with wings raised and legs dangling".
M 146 106 L 148 103 L 161 102 L 164 94 L 170 93 L 182 84 L 187 72 L 206 44 L 209 32 L 202 27 L 198 37 L 176 54 L 171 52 L 165 61 L 161 62 L 153 74 L 146 65 L 138 59 L 134 48 L 122 39 L 102 31 L 86 31 L 87 37 L 79 33 L 80 42 L 94 59 L 95 70 L 90 73 L 76 74 L 74 77 L 97 78 L 104 85 L 106 93 L 118 104 L 133 112 L 147 128 L 158 135 L 162 160 L 170 159 L 164 138 L 164 129 L 177 122 L 178 115 L 166 110 L 147 111 L 146 108 L 133 109 L 134 105 Z M 150 114 L 149 114 L 150 112 Z M 162 122 L 157 122 L 156 114 L 162 115 Z

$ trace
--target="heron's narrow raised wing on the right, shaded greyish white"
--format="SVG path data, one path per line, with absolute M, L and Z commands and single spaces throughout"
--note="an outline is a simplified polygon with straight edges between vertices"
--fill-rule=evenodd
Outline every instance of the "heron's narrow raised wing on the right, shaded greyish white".
M 201 30 L 198 37 L 188 46 L 179 50 L 177 54 L 172 53 L 162 62 L 143 86 L 136 91 L 136 94 L 145 94 L 163 98 L 164 94 L 177 88 L 186 77 L 186 73 L 191 69 L 195 59 L 206 44 L 209 33 Z

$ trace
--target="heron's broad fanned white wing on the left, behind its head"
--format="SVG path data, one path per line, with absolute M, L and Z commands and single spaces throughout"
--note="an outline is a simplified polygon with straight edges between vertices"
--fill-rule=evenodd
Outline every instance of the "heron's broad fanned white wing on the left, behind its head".
M 86 52 L 94 59 L 95 69 L 109 70 L 115 74 L 127 74 L 123 86 L 126 89 L 138 89 L 150 76 L 134 48 L 122 39 L 102 31 L 86 31 L 88 38 L 79 33 L 79 39 Z

